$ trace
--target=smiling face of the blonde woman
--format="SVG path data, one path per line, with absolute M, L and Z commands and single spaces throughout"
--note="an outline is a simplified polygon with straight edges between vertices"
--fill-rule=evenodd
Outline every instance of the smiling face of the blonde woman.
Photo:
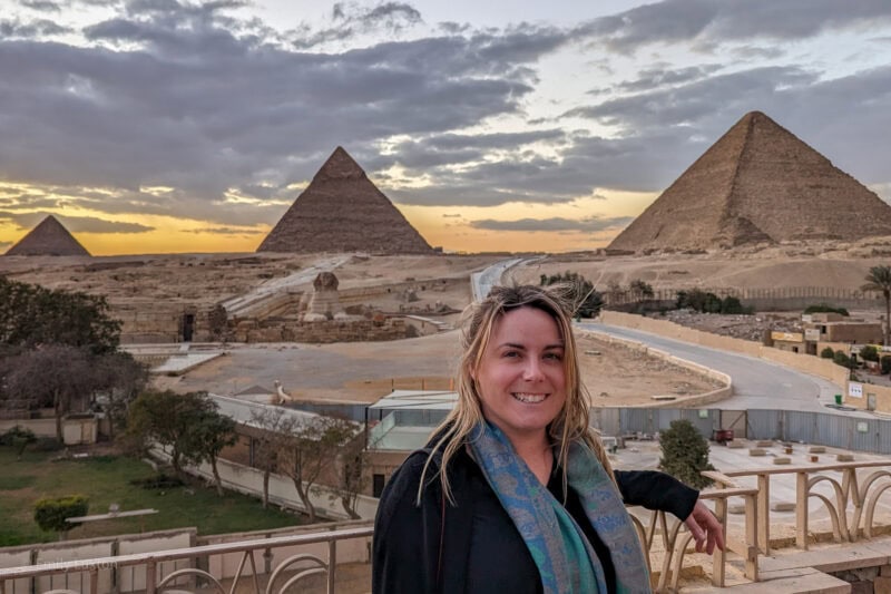
M 540 439 L 566 402 L 557 323 L 535 308 L 505 313 L 495 322 L 473 379 L 489 421 L 515 444 Z

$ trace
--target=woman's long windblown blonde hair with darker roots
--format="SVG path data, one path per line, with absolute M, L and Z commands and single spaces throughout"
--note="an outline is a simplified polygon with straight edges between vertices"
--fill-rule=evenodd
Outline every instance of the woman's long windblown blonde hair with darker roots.
M 454 503 L 447 468 L 452 457 L 466 446 L 468 436 L 483 421 L 480 395 L 473 381 L 472 371 L 477 369 L 482 359 L 482 353 L 491 339 L 496 322 L 507 312 L 519 308 L 533 308 L 544 311 L 554 319 L 560 338 L 564 340 L 564 373 L 566 377 L 566 402 L 557 418 L 548 426 L 548 435 L 558 448 L 557 462 L 562 468 L 564 493 L 566 493 L 566 469 L 569 457 L 569 445 L 572 441 L 584 441 L 597 456 L 609 477 L 613 477 L 613 467 L 607 458 L 600 438 L 589 427 L 588 407 L 590 399 L 588 391 L 581 382 L 578 364 L 578 350 L 572 333 L 572 304 L 577 302 L 577 291 L 574 285 L 552 285 L 549 288 L 535 285 L 496 286 L 489 295 L 478 303 L 470 304 L 463 313 L 461 332 L 462 354 L 458 367 L 458 402 L 449 416 L 437 428 L 433 435 L 438 436 L 433 444 L 433 452 L 441 451 L 442 460 L 439 468 L 439 479 L 442 491 L 450 503 Z M 428 457 L 421 474 L 421 484 L 418 489 L 418 503 L 424 486 L 424 480 L 430 461 Z

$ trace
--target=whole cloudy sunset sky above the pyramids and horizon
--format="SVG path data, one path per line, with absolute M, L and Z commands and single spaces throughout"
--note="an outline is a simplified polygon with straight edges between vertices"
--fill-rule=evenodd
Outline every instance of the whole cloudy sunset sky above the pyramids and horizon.
M 337 145 L 432 245 L 593 249 L 752 110 L 891 202 L 891 2 L 0 0 L 0 251 L 253 251 Z

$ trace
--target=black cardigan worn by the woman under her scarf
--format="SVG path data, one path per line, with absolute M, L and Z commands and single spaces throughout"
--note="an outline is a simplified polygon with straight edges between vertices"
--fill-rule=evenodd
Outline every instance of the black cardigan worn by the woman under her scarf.
M 541 580 L 535 561 L 467 451 L 459 450 L 449 464 L 456 505 L 443 505 L 437 479 L 439 454 L 428 469 L 429 484 L 421 505 L 415 504 L 428 455 L 429 450 L 412 454 L 390 478 L 381 496 L 374 523 L 372 593 L 540 593 Z M 626 504 L 662 509 L 681 519 L 686 519 L 698 497 L 697 490 L 664 473 L 617 470 L 616 481 Z M 557 473 L 548 488 L 562 500 Z M 608 551 L 584 517 L 578 496 L 571 489 L 567 509 L 598 554 L 611 591 L 615 569 Z

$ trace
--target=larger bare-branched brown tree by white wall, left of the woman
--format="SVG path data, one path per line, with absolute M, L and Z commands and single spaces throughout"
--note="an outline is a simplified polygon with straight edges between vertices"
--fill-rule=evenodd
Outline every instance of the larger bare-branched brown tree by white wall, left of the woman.
M 341 448 L 355 438 L 356 423 L 324 416 L 311 420 L 290 418 L 286 430 L 290 439 L 281 452 L 280 469 L 291 477 L 313 523 L 316 512 L 310 495 L 315 490 L 323 470 L 335 468 Z

